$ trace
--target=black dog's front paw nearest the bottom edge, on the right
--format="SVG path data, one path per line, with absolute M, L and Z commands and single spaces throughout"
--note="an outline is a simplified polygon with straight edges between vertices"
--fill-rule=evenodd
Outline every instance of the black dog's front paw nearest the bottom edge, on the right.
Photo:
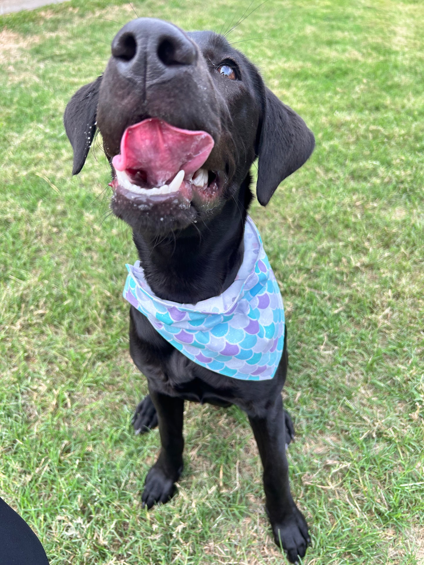
M 283 520 L 271 522 L 271 525 L 275 543 L 282 547 L 290 562 L 296 563 L 298 557 L 304 557 L 310 543 L 308 524 L 296 506 Z

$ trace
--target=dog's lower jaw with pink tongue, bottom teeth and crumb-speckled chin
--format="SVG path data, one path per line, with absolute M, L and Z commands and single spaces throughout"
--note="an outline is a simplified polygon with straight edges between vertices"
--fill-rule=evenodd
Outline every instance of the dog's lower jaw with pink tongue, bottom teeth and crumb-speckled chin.
M 214 146 L 203 131 L 149 118 L 126 129 L 113 164 L 111 208 L 134 229 L 182 229 L 219 205 L 223 173 L 205 164 Z

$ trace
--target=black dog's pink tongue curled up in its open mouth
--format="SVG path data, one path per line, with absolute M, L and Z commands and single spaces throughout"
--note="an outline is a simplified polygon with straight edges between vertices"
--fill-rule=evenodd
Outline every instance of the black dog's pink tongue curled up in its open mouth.
M 130 125 L 122 136 L 121 153 L 112 164 L 117 171 L 145 171 L 147 182 L 162 186 L 184 169 L 185 179 L 205 163 L 214 146 L 206 132 L 175 128 L 158 118 Z

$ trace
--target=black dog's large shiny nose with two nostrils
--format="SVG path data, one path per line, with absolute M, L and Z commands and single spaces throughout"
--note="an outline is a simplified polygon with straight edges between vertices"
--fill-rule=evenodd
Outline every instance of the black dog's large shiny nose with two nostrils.
M 167 21 L 139 18 L 130 21 L 116 34 L 112 55 L 124 75 L 145 72 L 157 74 L 166 67 L 192 65 L 197 49 L 181 29 Z M 142 76 L 145 76 L 145 72 Z M 152 76 L 147 76 L 149 80 Z

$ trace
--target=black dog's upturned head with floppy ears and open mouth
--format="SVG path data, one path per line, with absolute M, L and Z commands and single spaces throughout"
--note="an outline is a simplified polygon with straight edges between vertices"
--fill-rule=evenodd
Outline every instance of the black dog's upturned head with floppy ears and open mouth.
M 64 125 L 74 175 L 99 129 L 112 209 L 137 232 L 207 221 L 240 197 L 257 157 L 265 206 L 314 148 L 304 121 L 226 38 L 150 18 L 116 34 L 105 72 L 73 95 Z

